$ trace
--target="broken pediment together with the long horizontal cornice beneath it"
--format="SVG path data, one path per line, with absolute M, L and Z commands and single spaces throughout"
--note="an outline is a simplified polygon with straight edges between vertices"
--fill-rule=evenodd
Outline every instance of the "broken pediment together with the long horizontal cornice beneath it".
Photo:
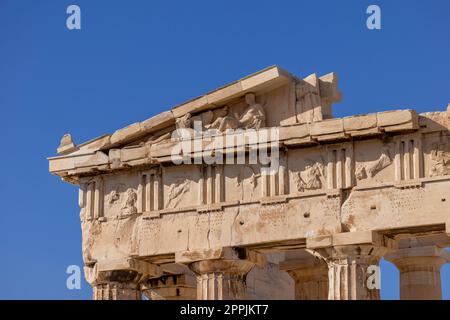
M 218 140 L 241 135 L 242 130 L 245 134 L 259 134 L 276 128 L 278 136 L 267 141 L 267 145 L 304 148 L 412 132 L 424 127 L 425 119 L 432 118 L 418 117 L 408 109 L 332 118 L 332 103 L 341 98 L 337 85 L 334 73 L 300 79 L 279 67 L 270 67 L 113 134 L 79 145 L 65 135 L 58 148 L 59 156 L 49 158 L 50 172 L 76 182 L 77 177 L 99 172 L 167 165 L 173 161 L 172 151 L 180 144 L 180 129 L 200 132 L 200 153 L 195 148 L 188 153 L 183 150 L 183 157 L 194 159 L 211 152 L 210 146 Z M 199 127 L 196 123 L 200 123 Z M 427 130 L 442 130 L 440 126 L 426 126 Z M 195 134 L 188 138 L 189 143 L 197 141 Z M 223 153 L 253 148 L 245 141 L 240 143 L 224 148 Z M 263 145 L 258 144 L 258 148 Z

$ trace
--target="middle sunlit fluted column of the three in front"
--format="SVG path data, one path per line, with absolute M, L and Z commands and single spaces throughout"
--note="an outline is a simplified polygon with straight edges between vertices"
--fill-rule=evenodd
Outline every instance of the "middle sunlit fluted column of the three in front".
M 244 259 L 202 260 L 189 265 L 197 275 L 198 300 L 246 299 L 245 278 L 254 266 Z

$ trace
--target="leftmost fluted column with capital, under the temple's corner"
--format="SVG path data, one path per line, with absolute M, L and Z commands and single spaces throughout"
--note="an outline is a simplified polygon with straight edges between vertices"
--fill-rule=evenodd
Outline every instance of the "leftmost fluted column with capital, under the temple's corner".
M 96 262 L 84 268 L 94 300 L 140 300 L 141 283 L 161 275 L 159 267 L 131 258 Z

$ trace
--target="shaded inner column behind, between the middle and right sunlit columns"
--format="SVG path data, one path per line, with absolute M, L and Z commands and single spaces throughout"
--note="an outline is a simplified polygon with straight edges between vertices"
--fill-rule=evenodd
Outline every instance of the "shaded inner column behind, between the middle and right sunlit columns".
M 323 260 L 306 254 L 310 257 L 280 262 L 280 270 L 295 281 L 296 300 L 327 300 L 328 266 Z

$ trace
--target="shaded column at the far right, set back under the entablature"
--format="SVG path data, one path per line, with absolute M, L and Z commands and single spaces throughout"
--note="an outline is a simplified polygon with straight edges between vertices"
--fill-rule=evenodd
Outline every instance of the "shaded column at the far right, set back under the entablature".
M 441 266 L 450 253 L 437 246 L 399 249 L 389 255 L 400 271 L 401 300 L 441 300 Z

